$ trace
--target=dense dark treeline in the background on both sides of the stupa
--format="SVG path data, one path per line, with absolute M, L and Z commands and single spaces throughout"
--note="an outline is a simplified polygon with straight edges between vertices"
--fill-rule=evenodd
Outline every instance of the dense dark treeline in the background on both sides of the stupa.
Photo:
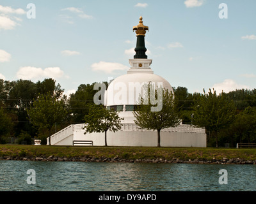
M 108 86 L 108 83 L 104 83 Z M 19 141 L 25 140 L 28 144 L 31 143 L 31 137 L 39 138 L 42 143 L 46 143 L 46 138 L 49 136 L 47 127 L 49 129 L 49 126 L 45 124 L 45 128 L 42 128 L 42 126 L 39 128 L 33 125 L 28 115 L 34 102 L 43 99 L 52 99 L 49 106 L 54 106 L 58 101 L 62 101 L 59 104 L 62 109 L 56 108 L 54 110 L 53 108 L 51 109 L 52 112 L 49 112 L 50 115 L 56 115 L 58 110 L 65 110 L 65 114 L 61 114 L 54 124 L 51 124 L 50 134 L 60 131 L 60 129 L 70 124 L 83 123 L 84 115 L 88 114 L 88 104 L 93 103 L 93 96 L 97 92 L 93 90 L 94 84 L 81 84 L 74 94 L 66 96 L 64 90 L 61 89 L 61 85 L 56 84 L 56 81 L 52 78 L 36 83 L 30 80 L 0 80 L 0 143 L 4 143 L 8 136 L 19 137 Z M 237 142 L 256 142 L 256 89 L 241 89 L 222 93 L 215 97 L 216 99 L 225 98 L 222 102 L 219 100 L 218 105 L 216 105 L 217 102 L 214 102 L 214 92 L 204 94 L 195 92 L 191 94 L 186 87 L 174 87 L 173 90 L 183 123 L 204 126 L 207 130 L 207 145 L 209 147 L 215 146 L 216 135 L 218 135 L 219 147 L 223 147 L 225 143 L 229 143 L 230 147 L 235 147 Z M 211 94 L 212 97 L 210 97 Z M 211 103 L 206 104 L 205 101 L 210 101 L 210 98 Z M 234 115 L 228 116 L 232 117 L 233 120 L 223 117 L 222 120 L 228 120 L 229 122 L 222 126 L 213 127 L 209 124 L 200 123 L 199 117 L 196 115 L 201 113 L 208 115 L 208 112 L 203 113 L 202 110 L 197 110 L 196 107 L 207 105 L 209 110 L 224 112 L 225 109 L 221 110 L 221 107 L 218 106 L 227 107 L 227 101 L 234 103 L 236 109 Z M 223 104 L 221 105 L 221 103 Z M 214 114 L 212 113 L 212 115 Z M 216 117 L 219 119 L 220 116 L 216 115 Z M 204 118 L 203 120 L 207 119 Z M 216 128 L 214 129 L 214 127 Z

